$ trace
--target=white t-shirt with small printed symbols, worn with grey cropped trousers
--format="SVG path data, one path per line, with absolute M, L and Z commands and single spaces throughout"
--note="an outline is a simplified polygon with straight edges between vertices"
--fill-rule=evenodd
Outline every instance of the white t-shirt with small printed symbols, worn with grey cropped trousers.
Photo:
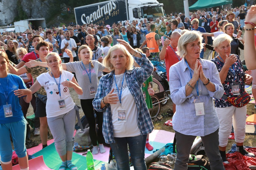
M 66 80 L 71 81 L 73 77 L 74 75 L 72 73 L 62 70 L 60 84 Z M 58 84 L 59 84 L 59 79 L 60 78 L 55 78 Z M 56 116 L 68 113 L 75 106 L 75 103 L 73 102 L 73 99 L 69 94 L 68 87 L 60 85 L 60 94 L 61 94 L 61 99 L 60 99 L 59 88 L 55 80 L 48 72 L 42 73 L 37 77 L 37 81 L 41 86 L 44 87 L 47 95 L 47 102 L 46 102 L 47 118 L 56 117 Z M 59 108 L 59 101 L 61 100 L 65 101 L 66 108 L 62 108 L 62 109 Z

